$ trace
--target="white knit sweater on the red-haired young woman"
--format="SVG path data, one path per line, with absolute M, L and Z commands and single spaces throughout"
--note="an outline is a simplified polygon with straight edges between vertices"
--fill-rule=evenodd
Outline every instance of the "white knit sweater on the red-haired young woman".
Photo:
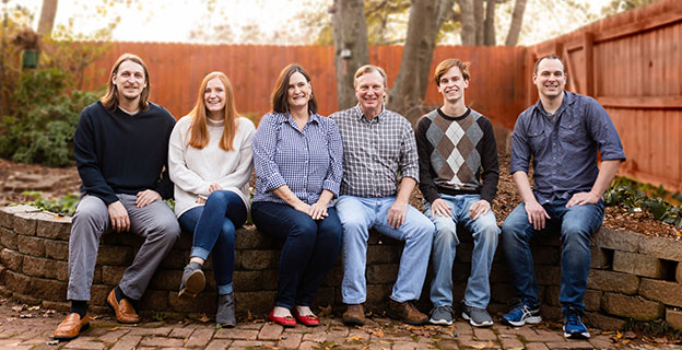
M 175 184 L 175 214 L 179 218 L 186 211 L 201 206 L 197 196 L 209 196 L 209 186 L 219 184 L 223 189 L 234 191 L 249 210 L 248 180 L 254 172 L 251 141 L 256 127 L 251 120 L 239 117 L 234 150 L 219 147 L 224 122 L 209 119 L 209 144 L 199 150 L 189 147 L 191 117 L 185 116 L 175 125 L 168 144 L 168 171 Z

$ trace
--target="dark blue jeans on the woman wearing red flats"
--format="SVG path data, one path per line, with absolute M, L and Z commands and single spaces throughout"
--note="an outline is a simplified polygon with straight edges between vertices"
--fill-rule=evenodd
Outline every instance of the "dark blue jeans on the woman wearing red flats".
M 280 253 L 275 306 L 310 306 L 341 247 L 341 223 L 334 208 L 313 220 L 289 205 L 254 202 L 251 218 L 263 234 L 284 241 Z

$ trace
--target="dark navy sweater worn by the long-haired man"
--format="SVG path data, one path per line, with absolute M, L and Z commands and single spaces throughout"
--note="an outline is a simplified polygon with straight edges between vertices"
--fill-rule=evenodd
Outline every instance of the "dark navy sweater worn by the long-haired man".
M 120 108 L 111 113 L 102 102 L 85 107 L 73 137 L 81 191 L 107 206 L 118 200 L 116 194 L 145 189 L 170 198 L 168 138 L 174 126 L 175 118 L 153 103 L 133 116 Z

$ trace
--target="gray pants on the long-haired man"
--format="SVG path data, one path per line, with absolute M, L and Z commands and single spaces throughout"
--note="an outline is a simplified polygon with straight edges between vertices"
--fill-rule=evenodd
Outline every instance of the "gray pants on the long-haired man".
M 128 211 L 130 232 L 144 237 L 138 255 L 118 285 L 127 296 L 140 300 L 158 264 L 180 236 L 180 226 L 170 208 L 162 200 L 138 208 L 136 196 L 117 196 Z M 89 195 L 81 198 L 69 238 L 68 300 L 90 300 L 99 237 L 110 225 L 109 212 L 102 199 Z

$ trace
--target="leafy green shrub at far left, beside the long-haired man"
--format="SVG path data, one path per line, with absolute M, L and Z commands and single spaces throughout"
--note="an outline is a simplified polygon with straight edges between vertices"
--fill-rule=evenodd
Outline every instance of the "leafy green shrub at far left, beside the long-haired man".
M 0 156 L 48 166 L 73 164 L 73 133 L 84 106 L 101 93 L 67 91 L 68 74 L 39 69 L 20 75 L 13 115 L 0 120 Z

